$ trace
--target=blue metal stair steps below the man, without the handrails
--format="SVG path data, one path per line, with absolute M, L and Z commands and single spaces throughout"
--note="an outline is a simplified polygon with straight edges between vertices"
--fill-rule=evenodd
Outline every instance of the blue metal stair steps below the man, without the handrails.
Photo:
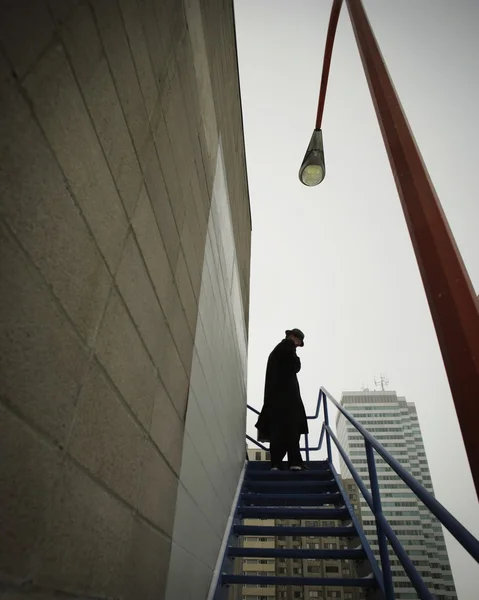
M 232 585 L 348 586 L 375 590 L 380 587 L 379 568 L 356 519 L 353 508 L 334 468 L 323 462 L 310 462 L 310 471 L 270 471 L 270 464 L 249 462 L 228 547 L 223 573 L 215 600 L 227 598 L 225 590 Z M 336 520 L 337 527 L 244 525 L 243 519 L 316 519 Z M 278 537 L 314 536 L 348 538 L 347 549 L 248 548 L 244 536 Z M 315 560 L 354 560 L 368 572 L 363 577 L 302 577 L 284 575 L 235 574 L 235 558 L 277 558 Z M 375 569 L 371 570 L 369 560 Z M 229 563 L 229 564 L 228 564 Z M 366 564 L 366 569 L 364 569 Z M 230 571 L 230 572 L 228 572 Z M 376 571 L 376 576 L 374 575 Z

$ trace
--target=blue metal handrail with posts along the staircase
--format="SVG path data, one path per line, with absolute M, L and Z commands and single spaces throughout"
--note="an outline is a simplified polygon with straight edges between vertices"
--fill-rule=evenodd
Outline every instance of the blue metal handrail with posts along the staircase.
M 331 430 L 329 426 L 329 415 L 328 415 L 328 400 L 344 415 L 344 417 L 353 425 L 357 431 L 363 436 L 366 456 L 368 461 L 368 472 L 369 482 L 371 485 L 371 491 L 366 488 L 363 480 L 359 476 L 357 470 L 354 468 L 351 459 L 341 446 L 338 438 Z M 326 448 L 328 453 L 328 461 L 332 465 L 332 450 L 331 440 L 334 442 L 339 454 L 344 460 L 349 472 L 353 476 L 356 484 L 361 491 L 364 499 L 371 508 L 371 511 L 376 519 L 376 529 L 379 542 L 379 551 L 381 559 L 380 577 L 382 579 L 381 585 L 386 600 L 394 600 L 394 589 L 392 584 L 391 568 L 389 565 L 389 555 L 387 549 L 387 540 L 389 541 L 392 549 L 396 556 L 401 562 L 404 570 L 409 577 L 411 583 L 416 589 L 421 600 L 434 600 L 434 596 L 428 590 L 424 583 L 421 575 L 414 566 L 413 562 L 404 550 L 401 542 L 394 533 L 392 527 L 389 525 L 386 517 L 382 512 L 381 507 L 381 496 L 379 489 L 379 482 L 376 474 L 376 464 L 374 457 L 374 450 L 383 458 L 383 460 L 396 472 L 396 474 L 404 481 L 409 489 L 421 500 L 421 502 L 429 509 L 429 511 L 437 517 L 437 519 L 448 529 L 456 540 L 467 550 L 467 552 L 479 562 L 479 540 L 477 540 L 434 496 L 429 493 L 424 486 L 422 486 L 417 479 L 415 479 L 406 469 L 384 448 L 384 446 L 372 436 L 367 429 L 365 429 L 359 421 L 357 421 L 349 412 L 341 406 L 341 404 L 331 396 L 331 394 L 324 388 L 321 387 L 318 394 L 318 401 L 316 403 L 316 410 L 314 415 L 308 416 L 308 419 L 317 419 L 320 414 L 321 406 L 324 409 L 324 421 L 321 428 L 321 434 L 318 440 L 318 444 L 315 447 L 309 445 L 309 436 L 305 436 L 305 446 L 301 448 L 302 451 L 306 452 L 306 460 L 309 460 L 310 452 L 321 450 L 324 437 L 326 436 Z M 248 405 L 248 409 L 256 414 L 260 414 L 254 407 Z M 263 444 L 247 435 L 247 439 L 263 450 L 268 450 Z M 383 587 L 384 586 L 384 587 Z

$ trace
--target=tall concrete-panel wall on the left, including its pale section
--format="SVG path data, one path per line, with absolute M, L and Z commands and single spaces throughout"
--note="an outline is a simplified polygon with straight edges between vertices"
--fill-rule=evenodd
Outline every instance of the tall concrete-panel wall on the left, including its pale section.
M 232 1 L 0 10 L 0 599 L 203 590 L 244 453 Z

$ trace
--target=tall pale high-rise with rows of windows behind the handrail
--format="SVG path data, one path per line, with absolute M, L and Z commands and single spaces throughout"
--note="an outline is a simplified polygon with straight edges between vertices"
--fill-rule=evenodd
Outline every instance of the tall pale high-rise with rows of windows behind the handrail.
M 394 391 L 343 393 L 342 406 L 354 416 L 431 494 L 434 493 L 421 429 L 414 403 Z M 353 425 L 339 413 L 338 438 L 354 467 L 369 488 L 364 440 Z M 385 517 L 394 529 L 426 585 L 438 600 L 456 600 L 456 590 L 440 523 L 409 490 L 387 463 L 376 454 Z M 341 459 L 341 474 L 351 474 Z M 361 496 L 363 526 L 379 559 L 374 517 Z M 415 599 L 416 591 L 402 565 L 391 551 L 396 598 Z

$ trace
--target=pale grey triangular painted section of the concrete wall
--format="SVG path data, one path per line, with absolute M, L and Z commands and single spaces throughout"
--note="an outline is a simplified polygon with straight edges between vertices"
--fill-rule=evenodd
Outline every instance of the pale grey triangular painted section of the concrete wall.
M 203 264 L 168 600 L 206 597 L 246 457 L 246 330 L 225 175 L 220 145 Z

